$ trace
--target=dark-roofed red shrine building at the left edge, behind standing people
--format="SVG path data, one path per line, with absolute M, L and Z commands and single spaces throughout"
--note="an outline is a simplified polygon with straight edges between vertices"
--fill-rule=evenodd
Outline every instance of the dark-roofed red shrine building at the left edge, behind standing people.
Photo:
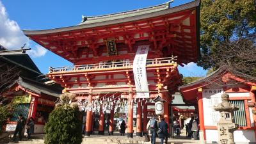
M 11 70 L 6 77 L 8 82 L 1 87 L 1 102 L 13 104 L 12 117 L 4 128 L 6 131 L 15 131 L 18 116 L 22 114 L 26 120 L 34 118 L 35 133 L 44 133 L 45 122 L 63 88 L 56 84 L 49 86 L 44 83 L 48 78 L 26 54 L 27 50 L 29 49 L 0 51 L 2 70 Z

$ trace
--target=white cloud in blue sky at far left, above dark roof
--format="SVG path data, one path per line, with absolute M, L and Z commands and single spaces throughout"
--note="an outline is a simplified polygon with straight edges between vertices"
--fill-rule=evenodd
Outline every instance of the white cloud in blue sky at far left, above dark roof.
M 25 36 L 17 22 L 10 20 L 6 8 L 0 1 L 0 44 L 6 47 L 6 49 L 20 49 L 24 44 L 29 47 L 29 38 Z M 44 56 L 47 52 L 43 47 L 39 45 L 35 46 L 31 52 L 28 52 L 32 57 L 36 58 Z

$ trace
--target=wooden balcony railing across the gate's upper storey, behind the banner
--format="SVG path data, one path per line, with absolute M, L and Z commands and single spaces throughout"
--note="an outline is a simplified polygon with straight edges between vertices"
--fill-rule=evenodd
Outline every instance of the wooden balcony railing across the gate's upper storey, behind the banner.
M 154 65 L 174 65 L 177 57 L 169 57 L 169 58 L 155 58 L 155 59 L 147 59 L 146 67 L 154 66 Z M 133 61 L 116 61 L 111 63 L 96 63 L 96 64 L 88 64 L 88 65 L 74 65 L 74 66 L 66 66 L 66 67 L 50 67 L 49 73 L 54 72 L 71 72 L 77 70 L 102 70 L 107 68 L 131 68 L 133 65 Z

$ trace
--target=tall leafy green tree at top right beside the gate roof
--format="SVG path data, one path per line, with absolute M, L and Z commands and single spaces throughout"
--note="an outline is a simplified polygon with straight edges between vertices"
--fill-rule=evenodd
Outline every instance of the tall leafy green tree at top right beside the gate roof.
M 217 58 L 212 56 L 216 56 L 222 44 L 240 42 L 241 39 L 255 43 L 255 3 L 255 0 L 202 0 L 199 66 L 218 68 Z

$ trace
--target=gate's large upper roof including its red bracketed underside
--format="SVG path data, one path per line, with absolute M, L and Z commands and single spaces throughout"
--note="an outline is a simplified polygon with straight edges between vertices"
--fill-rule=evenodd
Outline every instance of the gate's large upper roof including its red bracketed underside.
M 98 63 L 102 58 L 100 49 L 111 38 L 116 40 L 116 44 L 125 44 L 125 49 L 129 49 L 125 58 L 131 59 L 136 44 L 144 40 L 151 44 L 152 52 L 163 54 L 162 50 L 166 48 L 168 54 L 172 52 L 178 56 L 178 63 L 182 64 L 196 62 L 200 56 L 199 15 L 200 0 L 173 8 L 168 2 L 129 12 L 83 17 L 76 26 L 24 30 L 24 33 L 75 65 Z M 124 53 L 121 55 L 124 56 Z M 94 61 L 92 58 L 95 58 Z

